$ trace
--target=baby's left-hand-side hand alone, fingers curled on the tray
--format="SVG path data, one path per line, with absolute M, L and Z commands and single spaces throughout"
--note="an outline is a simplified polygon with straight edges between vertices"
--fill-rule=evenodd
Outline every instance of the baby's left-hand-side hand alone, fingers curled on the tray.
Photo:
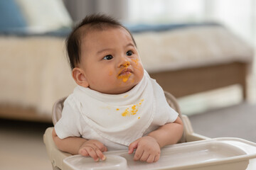
M 107 147 L 105 147 L 102 142 L 97 140 L 87 140 L 80 146 L 78 154 L 81 154 L 85 157 L 90 156 L 97 162 L 99 159 L 102 159 L 102 161 L 106 159 L 105 155 L 102 154 L 102 152 L 106 151 Z

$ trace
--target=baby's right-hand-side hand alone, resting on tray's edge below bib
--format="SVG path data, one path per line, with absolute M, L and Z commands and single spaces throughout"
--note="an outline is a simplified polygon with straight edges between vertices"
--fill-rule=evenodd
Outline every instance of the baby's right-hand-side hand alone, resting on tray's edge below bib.
M 152 163 L 159 160 L 161 149 L 154 137 L 144 136 L 135 140 L 129 145 L 128 153 L 132 154 L 136 148 L 134 161 L 140 160 L 142 162 Z

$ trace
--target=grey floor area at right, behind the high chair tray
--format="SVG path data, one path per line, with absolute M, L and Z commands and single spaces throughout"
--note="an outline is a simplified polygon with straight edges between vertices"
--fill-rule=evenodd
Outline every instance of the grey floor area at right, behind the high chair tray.
M 189 116 L 194 132 L 210 138 L 240 137 L 256 142 L 256 103 L 235 106 Z

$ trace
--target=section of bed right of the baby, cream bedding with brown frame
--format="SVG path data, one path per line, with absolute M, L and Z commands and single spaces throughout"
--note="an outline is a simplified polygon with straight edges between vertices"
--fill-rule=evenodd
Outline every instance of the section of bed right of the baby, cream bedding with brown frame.
M 240 84 L 247 98 L 253 50 L 228 28 L 176 24 L 171 30 L 134 37 L 146 70 L 176 98 L 232 84 Z

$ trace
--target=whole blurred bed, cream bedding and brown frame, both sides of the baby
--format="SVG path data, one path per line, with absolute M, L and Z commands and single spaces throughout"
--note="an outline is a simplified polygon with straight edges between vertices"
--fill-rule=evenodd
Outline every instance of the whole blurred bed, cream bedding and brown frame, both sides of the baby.
M 126 26 L 144 68 L 176 98 L 233 84 L 240 84 L 246 98 L 253 50 L 228 28 L 217 23 Z M 0 118 L 50 123 L 53 103 L 75 87 L 65 54 L 70 26 L 0 32 Z

